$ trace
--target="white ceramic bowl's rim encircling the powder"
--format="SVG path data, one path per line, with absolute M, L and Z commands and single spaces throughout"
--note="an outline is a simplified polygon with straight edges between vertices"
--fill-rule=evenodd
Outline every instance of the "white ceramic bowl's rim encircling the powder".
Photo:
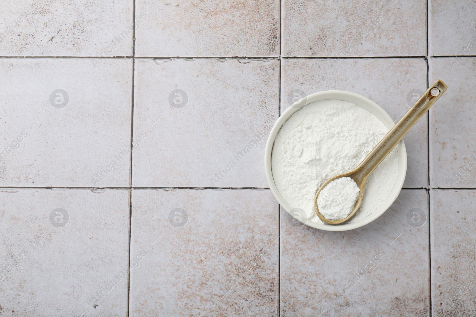
M 315 94 L 311 94 L 307 97 L 299 99 L 295 102 L 292 106 L 290 106 L 286 111 L 278 118 L 278 121 L 274 124 L 273 128 L 271 129 L 271 133 L 268 137 L 268 142 L 266 143 L 265 149 L 265 170 L 266 170 L 266 178 L 268 180 L 269 188 L 271 192 L 278 200 L 279 204 L 286 210 L 288 213 L 292 210 L 292 207 L 286 202 L 276 187 L 273 179 L 273 173 L 271 171 L 271 154 L 273 152 L 273 145 L 276 135 L 278 134 L 279 130 L 283 126 L 283 124 L 288 120 L 292 114 L 294 114 L 297 110 L 301 109 L 302 107 L 313 103 L 319 100 L 327 100 L 327 99 L 337 99 L 337 100 L 344 100 L 348 102 L 352 102 L 357 106 L 361 106 L 362 108 L 366 109 L 372 115 L 375 115 L 380 121 L 383 122 L 384 125 L 390 129 L 395 123 L 393 122 L 390 115 L 378 106 L 372 100 L 344 90 L 326 90 L 321 91 Z M 372 214 L 368 215 L 366 218 L 361 219 L 360 221 L 352 222 L 352 223 L 343 223 L 340 225 L 327 225 L 327 224 L 318 224 L 312 222 L 310 220 L 306 220 L 305 224 L 327 231 L 346 231 L 351 229 L 356 229 L 366 225 L 369 222 L 376 220 L 380 215 L 382 215 L 387 209 L 392 205 L 392 203 L 397 199 L 400 190 L 402 189 L 403 182 L 405 181 L 405 175 L 407 174 L 407 150 L 405 149 L 405 144 L 403 140 L 397 144 L 397 151 L 398 151 L 398 174 L 397 174 L 397 182 L 395 183 L 395 187 L 392 189 L 392 194 L 388 195 L 387 200 L 380 206 Z

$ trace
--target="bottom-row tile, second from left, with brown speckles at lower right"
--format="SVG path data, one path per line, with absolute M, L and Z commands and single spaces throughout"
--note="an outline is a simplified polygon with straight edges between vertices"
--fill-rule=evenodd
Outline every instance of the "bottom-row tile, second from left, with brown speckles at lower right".
M 130 316 L 276 316 L 278 216 L 269 190 L 134 190 Z

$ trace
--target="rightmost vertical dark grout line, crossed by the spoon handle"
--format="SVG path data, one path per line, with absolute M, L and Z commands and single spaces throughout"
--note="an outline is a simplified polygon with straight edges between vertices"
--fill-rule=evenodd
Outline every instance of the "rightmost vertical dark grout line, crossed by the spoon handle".
M 428 45 L 428 29 L 429 29 L 429 20 L 428 20 L 428 0 L 426 0 L 426 88 L 430 86 L 430 62 L 429 62 L 429 55 L 430 55 L 430 48 Z M 430 226 L 430 209 L 431 209 L 431 203 L 430 203 L 430 111 L 428 110 L 426 112 L 426 142 L 427 142 L 427 157 L 428 157 L 428 192 L 427 192 L 427 197 L 428 197 L 428 301 L 429 301 L 429 316 L 432 316 L 432 302 L 431 302 L 431 226 Z

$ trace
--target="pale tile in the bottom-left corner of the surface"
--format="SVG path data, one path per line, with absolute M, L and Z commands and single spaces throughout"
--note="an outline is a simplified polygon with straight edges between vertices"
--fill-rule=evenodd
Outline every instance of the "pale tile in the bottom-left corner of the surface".
M 126 316 L 128 190 L 3 188 L 0 201 L 2 315 Z

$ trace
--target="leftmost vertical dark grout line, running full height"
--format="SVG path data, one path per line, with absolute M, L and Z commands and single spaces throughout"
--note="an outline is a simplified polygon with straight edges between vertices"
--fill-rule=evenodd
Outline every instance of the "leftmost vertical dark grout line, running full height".
M 132 3 L 132 92 L 131 92 L 131 108 L 130 108 L 130 165 L 129 165 L 129 259 L 130 264 L 130 240 L 132 236 L 132 143 L 134 140 L 134 84 L 135 84 L 135 67 L 136 67 L 136 0 Z M 127 274 L 127 312 L 126 317 L 129 317 L 129 301 L 130 301 L 130 269 Z

